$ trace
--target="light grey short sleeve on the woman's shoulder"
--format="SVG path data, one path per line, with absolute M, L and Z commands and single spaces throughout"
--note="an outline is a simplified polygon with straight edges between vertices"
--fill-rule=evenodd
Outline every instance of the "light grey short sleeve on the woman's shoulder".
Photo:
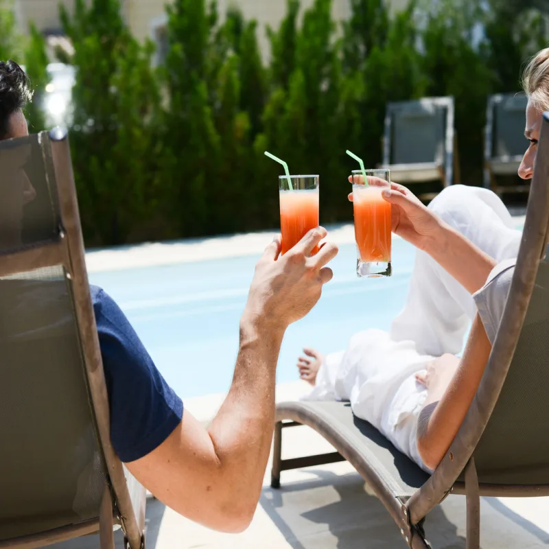
M 491 344 L 495 341 L 495 334 L 500 327 L 511 281 L 513 281 L 515 262 L 516 259 L 509 259 L 495 266 L 487 283 L 473 295 L 480 320 Z

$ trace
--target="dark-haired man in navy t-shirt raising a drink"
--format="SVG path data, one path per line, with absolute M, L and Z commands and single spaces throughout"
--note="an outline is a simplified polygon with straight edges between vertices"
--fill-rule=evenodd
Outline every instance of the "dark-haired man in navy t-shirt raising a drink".
M 23 108 L 31 97 L 21 67 L 0 63 L 0 139 L 28 135 Z M 26 200 L 34 198 L 29 186 L 23 185 Z M 233 384 L 207 429 L 183 410 L 113 299 L 90 288 L 113 447 L 143 486 L 189 519 L 237 532 L 253 517 L 274 428 L 281 342 L 288 325 L 314 307 L 332 277 L 325 265 L 338 253 L 336 246 L 324 244 L 311 255 L 326 234 L 320 227 L 310 231 L 283 257 L 279 238 L 266 248 L 240 321 Z

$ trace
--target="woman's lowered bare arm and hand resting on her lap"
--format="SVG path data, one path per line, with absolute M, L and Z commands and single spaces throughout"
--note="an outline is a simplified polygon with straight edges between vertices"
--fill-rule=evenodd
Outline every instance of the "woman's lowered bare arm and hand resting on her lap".
M 491 344 L 476 316 L 463 358 L 447 384 L 444 369 L 428 382 L 428 396 L 420 414 L 417 447 L 423 463 L 435 469 L 454 441 L 474 399 Z

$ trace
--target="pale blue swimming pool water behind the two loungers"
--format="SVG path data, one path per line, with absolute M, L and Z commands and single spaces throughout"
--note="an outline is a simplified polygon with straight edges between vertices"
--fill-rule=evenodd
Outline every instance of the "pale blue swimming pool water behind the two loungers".
M 354 244 L 340 246 L 334 279 L 313 311 L 285 336 L 278 382 L 297 379 L 304 345 L 344 349 L 352 334 L 387 329 L 401 309 L 414 248 L 393 241 L 393 277 L 358 279 Z M 119 303 L 156 365 L 177 393 L 197 397 L 229 388 L 238 350 L 238 326 L 258 257 L 155 266 L 90 274 Z

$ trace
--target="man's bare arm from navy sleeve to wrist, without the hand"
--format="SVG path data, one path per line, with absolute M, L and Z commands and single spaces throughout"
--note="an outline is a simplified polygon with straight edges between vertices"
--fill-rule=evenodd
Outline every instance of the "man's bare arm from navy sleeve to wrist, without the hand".
M 167 506 L 226 532 L 246 528 L 259 500 L 274 425 L 274 375 L 283 332 L 241 329 L 233 385 L 206 429 L 189 411 L 151 454 L 126 464 Z

